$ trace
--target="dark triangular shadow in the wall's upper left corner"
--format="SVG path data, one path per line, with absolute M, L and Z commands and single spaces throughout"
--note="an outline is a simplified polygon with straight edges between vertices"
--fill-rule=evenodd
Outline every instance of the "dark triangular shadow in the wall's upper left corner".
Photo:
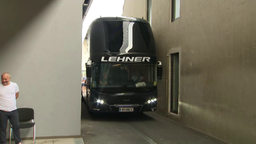
M 53 1 L 2 0 L 0 2 L 0 49 Z

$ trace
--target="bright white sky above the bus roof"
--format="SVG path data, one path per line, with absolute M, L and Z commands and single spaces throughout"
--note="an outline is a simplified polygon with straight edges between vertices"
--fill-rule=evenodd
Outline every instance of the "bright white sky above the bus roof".
M 124 0 L 93 0 L 82 24 L 82 42 L 93 20 L 100 16 L 122 16 L 123 6 Z

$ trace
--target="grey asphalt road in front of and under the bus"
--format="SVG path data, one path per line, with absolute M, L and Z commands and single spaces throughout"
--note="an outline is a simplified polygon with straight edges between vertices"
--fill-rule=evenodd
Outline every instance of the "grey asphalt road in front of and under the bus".
M 155 112 L 90 115 L 82 102 L 84 144 L 225 144 Z

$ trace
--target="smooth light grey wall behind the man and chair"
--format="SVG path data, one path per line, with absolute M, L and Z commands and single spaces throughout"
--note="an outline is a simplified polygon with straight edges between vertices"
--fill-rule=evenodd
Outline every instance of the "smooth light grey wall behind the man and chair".
M 81 36 L 81 0 L 0 2 L 0 73 L 18 84 L 17 107 L 34 108 L 37 137 L 80 135 Z

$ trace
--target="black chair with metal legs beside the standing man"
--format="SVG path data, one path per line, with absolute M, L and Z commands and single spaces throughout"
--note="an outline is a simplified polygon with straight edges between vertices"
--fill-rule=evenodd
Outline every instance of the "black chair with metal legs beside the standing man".
M 34 122 L 34 110 L 32 108 L 18 108 L 20 129 L 34 127 L 33 141 L 36 144 L 36 123 Z M 31 121 L 31 122 L 28 122 Z M 10 130 L 10 144 L 12 137 L 12 125 Z

